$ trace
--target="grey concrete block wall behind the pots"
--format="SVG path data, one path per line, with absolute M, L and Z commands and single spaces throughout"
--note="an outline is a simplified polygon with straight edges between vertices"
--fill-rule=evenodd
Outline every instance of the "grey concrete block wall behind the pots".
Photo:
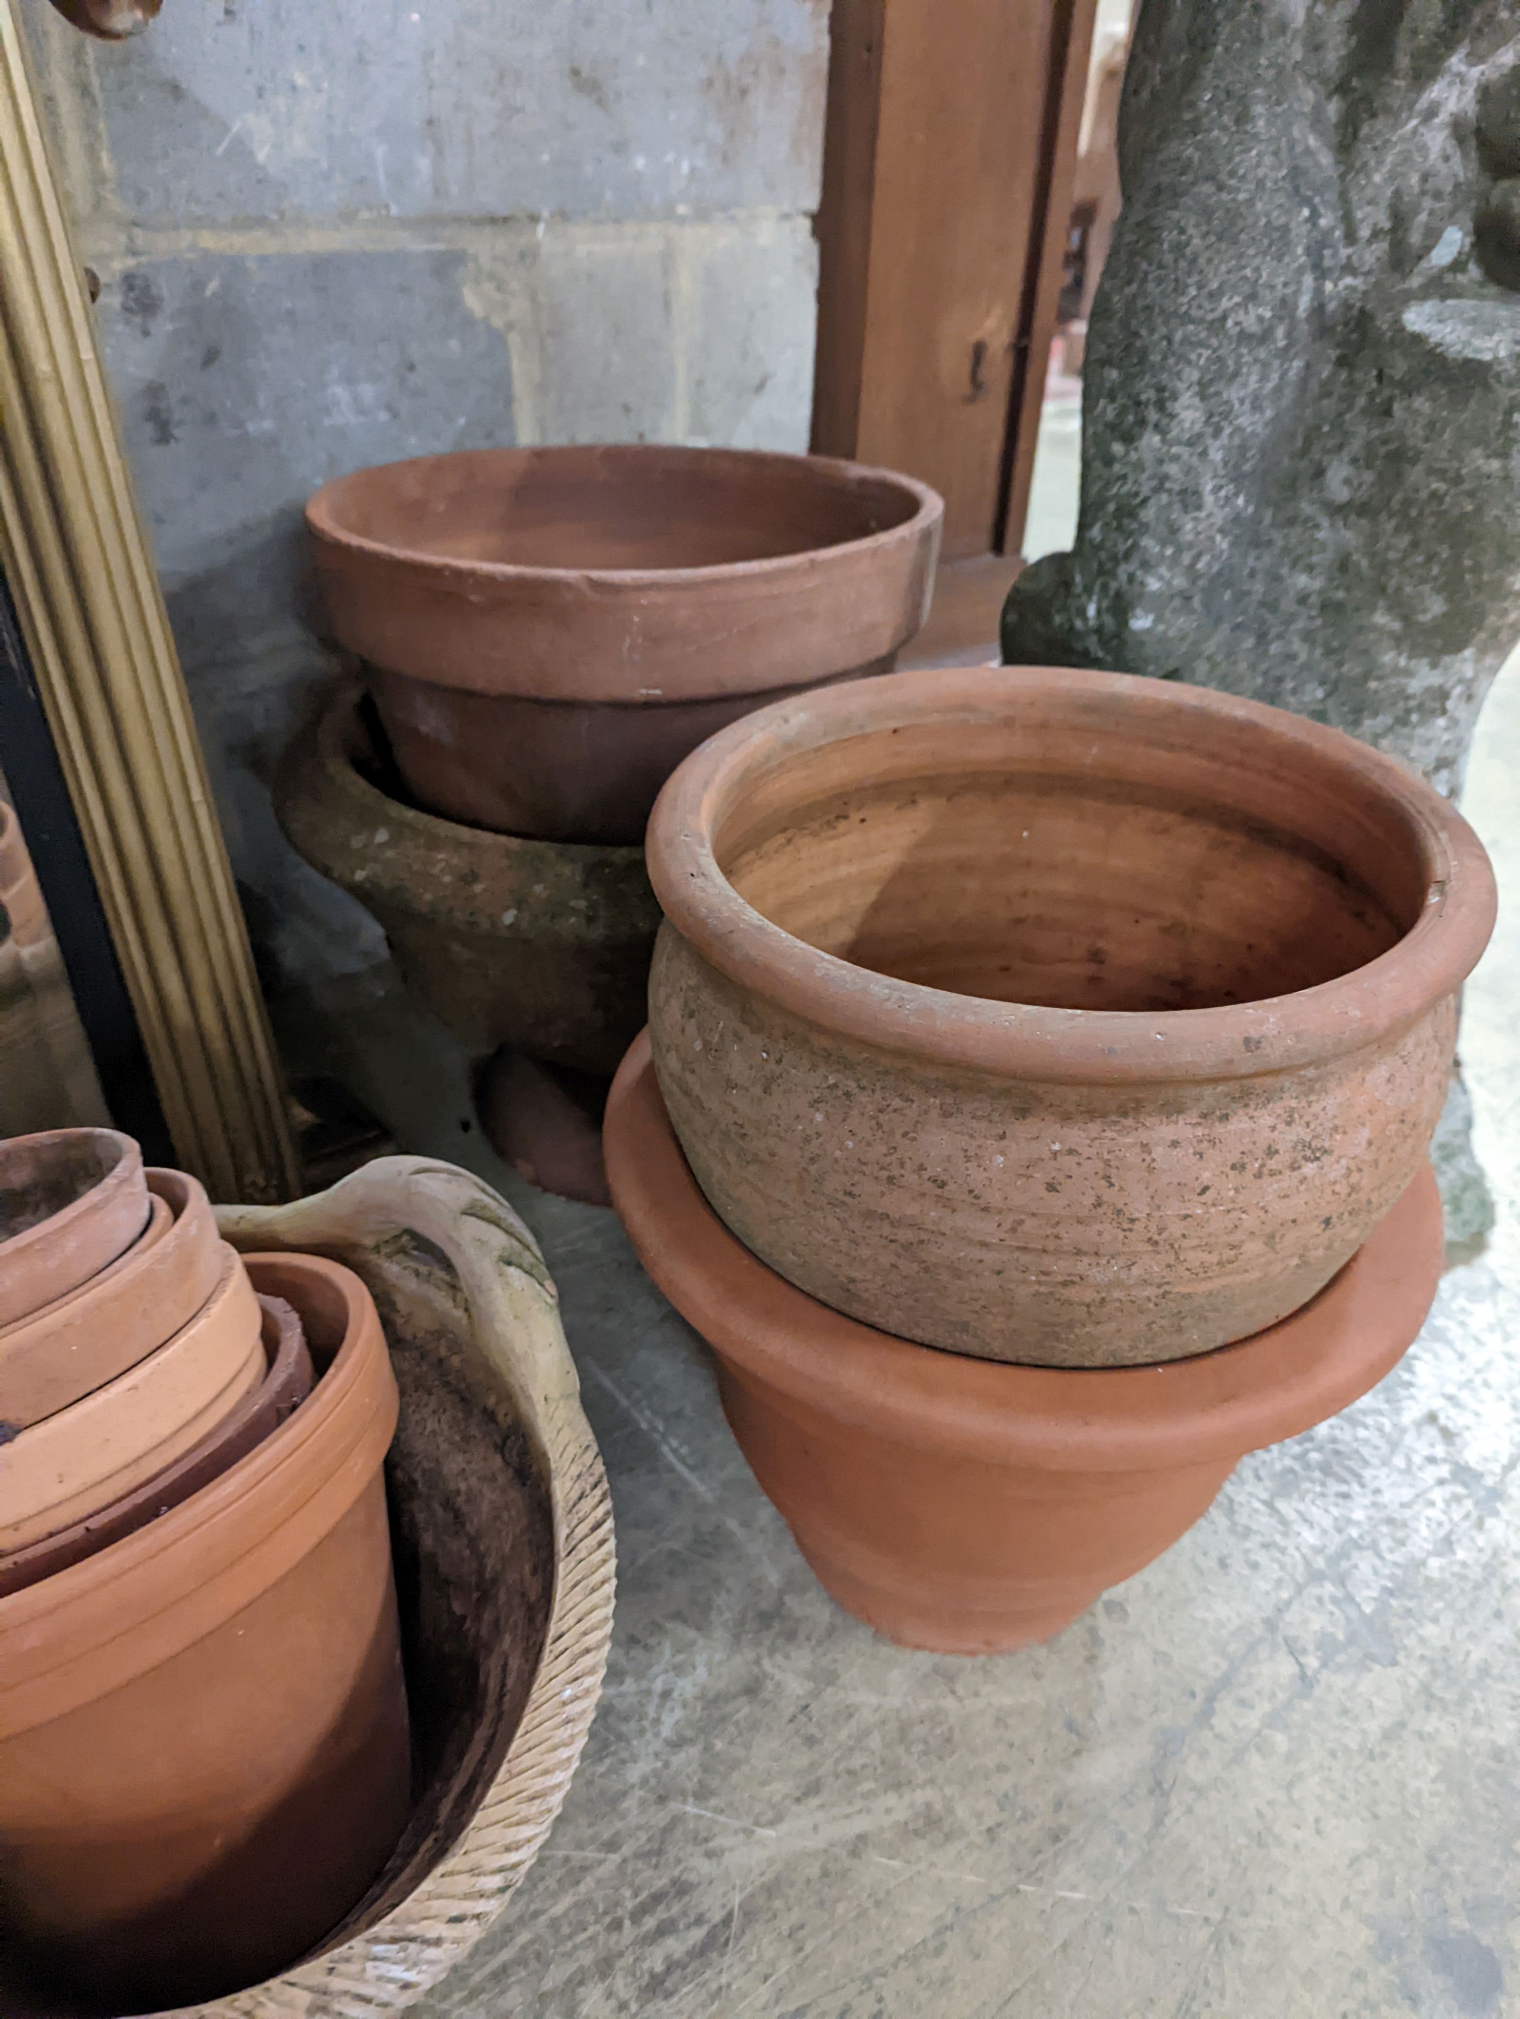
M 325 479 L 456 446 L 805 448 L 828 0 L 24 0 L 254 941 L 377 929 L 266 779 L 329 666 Z

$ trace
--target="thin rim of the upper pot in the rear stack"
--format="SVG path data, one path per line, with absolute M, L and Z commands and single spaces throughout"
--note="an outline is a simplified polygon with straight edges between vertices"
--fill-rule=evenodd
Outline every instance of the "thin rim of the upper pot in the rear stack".
M 813 470 L 824 472 L 832 479 L 844 479 L 848 483 L 860 483 L 862 479 L 890 485 L 896 491 L 906 493 L 914 499 L 916 509 L 908 519 L 900 519 L 896 525 L 882 527 L 876 533 L 862 533 L 858 539 L 834 541 L 828 547 L 797 547 L 791 553 L 757 555 L 749 561 L 715 561 L 707 567 L 531 567 L 521 561 L 470 561 L 464 557 L 450 557 L 440 553 L 426 553 L 418 547 L 398 547 L 382 539 L 371 539 L 365 533 L 351 533 L 333 513 L 335 499 L 341 495 L 343 487 L 353 483 L 355 476 L 367 476 L 375 468 L 379 470 L 404 470 L 418 468 L 424 462 L 458 462 L 466 456 L 503 456 L 503 454 L 529 454 L 537 450 L 539 454 L 553 454 L 555 448 L 575 450 L 579 454 L 604 456 L 618 462 L 646 462 L 658 456 L 660 460 L 676 462 L 707 462 L 717 466 L 719 462 L 751 462 L 757 464 L 807 464 Z M 688 448 L 682 444 L 664 442 L 575 442 L 575 444 L 523 444 L 521 448 L 456 448 L 446 450 L 438 456 L 404 456 L 398 462 L 369 464 L 363 470 L 349 470 L 345 476 L 333 476 L 329 483 L 315 491 L 307 501 L 307 525 L 319 541 L 327 541 L 333 547 L 347 549 L 349 553 L 363 553 L 369 559 L 384 561 L 386 565 L 408 565 L 424 569 L 440 579 L 464 579 L 464 581 L 501 581 L 501 583 L 525 583 L 537 581 L 545 588 L 573 588 L 581 583 L 598 583 L 608 590 L 658 590 L 658 588 L 694 588 L 707 581 L 749 581 L 763 575 L 783 573 L 795 567 L 801 559 L 816 555 L 862 555 L 878 551 L 880 547 L 898 541 L 918 541 L 935 525 L 945 519 L 945 499 L 939 491 L 931 491 L 929 485 L 918 483 L 916 476 L 904 476 L 900 470 L 882 470 L 870 462 L 848 462 L 842 456 L 799 456 L 787 454 L 773 448 Z

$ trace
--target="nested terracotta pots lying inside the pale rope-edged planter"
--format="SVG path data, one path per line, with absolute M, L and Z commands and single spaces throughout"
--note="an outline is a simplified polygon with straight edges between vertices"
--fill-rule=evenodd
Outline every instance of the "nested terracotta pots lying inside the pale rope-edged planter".
M 0 1948 L 157 2011 L 297 1958 L 406 1819 L 369 1292 L 109 1129 L 0 1143 Z

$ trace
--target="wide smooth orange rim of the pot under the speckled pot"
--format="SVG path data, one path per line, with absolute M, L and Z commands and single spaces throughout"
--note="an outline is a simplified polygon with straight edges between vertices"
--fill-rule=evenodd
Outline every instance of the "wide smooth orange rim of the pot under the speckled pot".
M 1292 1318 L 1151 1367 L 1023 1367 L 878 1333 L 753 1256 L 690 1173 L 648 1032 L 612 1082 L 604 1147 L 612 1199 L 640 1262 L 721 1359 L 870 1436 L 993 1466 L 1159 1472 L 1233 1462 L 1298 1436 L 1365 1395 L 1409 1351 L 1445 1262 L 1441 1195 L 1427 1163 Z

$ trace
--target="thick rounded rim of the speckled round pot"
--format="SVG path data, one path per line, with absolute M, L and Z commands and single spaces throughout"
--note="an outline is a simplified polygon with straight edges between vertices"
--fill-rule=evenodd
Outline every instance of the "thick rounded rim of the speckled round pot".
M 1290 995 L 1209 1010 L 1050 1010 L 957 995 L 880 975 L 795 939 L 745 902 L 717 864 L 715 834 L 745 787 L 771 775 L 759 739 L 803 753 L 927 721 L 985 721 L 1017 699 L 1128 695 L 1157 715 L 1243 723 L 1348 763 L 1397 804 L 1425 862 L 1427 905 L 1387 953 Z M 1496 917 L 1494 870 L 1461 818 L 1397 759 L 1338 729 L 1205 686 L 1064 666 L 914 668 L 816 688 L 721 729 L 668 777 L 646 834 L 670 927 L 739 987 L 826 1032 L 945 1066 L 1052 1082 L 1258 1078 L 1320 1064 L 1413 1024 L 1461 985 Z M 868 987 L 862 987 L 868 981 Z M 1250 1046 L 1247 1046 L 1250 1040 Z

